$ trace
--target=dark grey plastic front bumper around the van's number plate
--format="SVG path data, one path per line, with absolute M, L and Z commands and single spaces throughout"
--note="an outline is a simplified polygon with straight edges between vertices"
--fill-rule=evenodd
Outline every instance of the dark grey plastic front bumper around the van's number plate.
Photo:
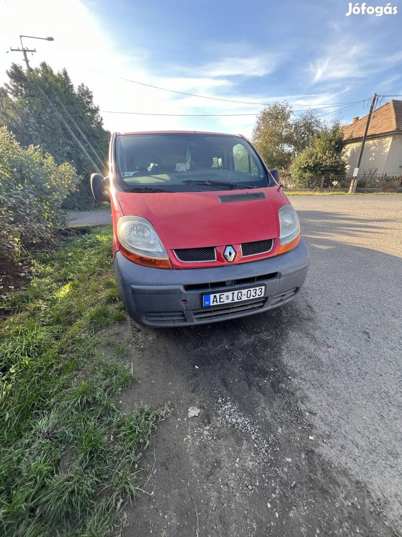
M 152 269 L 117 252 L 117 286 L 133 320 L 143 326 L 185 326 L 225 321 L 276 308 L 292 300 L 306 279 L 309 252 L 293 250 L 259 261 L 206 269 Z M 234 283 L 232 283 L 234 280 Z M 265 285 L 265 295 L 244 302 L 203 307 L 203 295 Z

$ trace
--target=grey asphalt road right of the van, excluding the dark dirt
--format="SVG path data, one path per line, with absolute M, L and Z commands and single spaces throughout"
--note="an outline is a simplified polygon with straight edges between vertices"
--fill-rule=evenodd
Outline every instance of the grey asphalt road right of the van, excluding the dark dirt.
M 387 499 L 400 531 L 402 197 L 291 201 L 311 254 L 297 306 L 313 316 L 291 332 L 285 362 L 330 431 L 322 451 Z

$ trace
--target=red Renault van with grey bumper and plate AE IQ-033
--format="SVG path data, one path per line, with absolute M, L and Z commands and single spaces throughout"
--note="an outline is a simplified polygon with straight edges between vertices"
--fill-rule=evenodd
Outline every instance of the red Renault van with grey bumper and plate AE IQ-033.
M 309 253 L 299 217 L 251 143 L 209 132 L 115 133 L 109 176 L 120 296 L 143 326 L 242 317 L 292 300 Z

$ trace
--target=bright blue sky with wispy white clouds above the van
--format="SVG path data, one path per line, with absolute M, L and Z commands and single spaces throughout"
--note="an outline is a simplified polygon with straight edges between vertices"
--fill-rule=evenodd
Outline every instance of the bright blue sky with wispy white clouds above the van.
M 323 120 L 348 123 L 368 113 L 374 92 L 386 96 L 379 105 L 402 95 L 402 0 L 390 6 L 398 12 L 346 16 L 343 0 L 0 0 L 0 85 L 11 62 L 23 62 L 8 52 L 20 34 L 51 36 L 24 38 L 36 48 L 31 66 L 46 61 L 84 82 L 111 131 L 250 137 L 264 104 L 284 100 L 295 115 L 318 108 Z

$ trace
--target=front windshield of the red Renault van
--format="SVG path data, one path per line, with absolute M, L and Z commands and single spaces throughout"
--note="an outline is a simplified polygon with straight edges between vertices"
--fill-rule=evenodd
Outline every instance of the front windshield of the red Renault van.
M 269 186 L 263 165 L 243 138 L 218 134 L 124 134 L 116 162 L 125 191 L 238 190 Z

